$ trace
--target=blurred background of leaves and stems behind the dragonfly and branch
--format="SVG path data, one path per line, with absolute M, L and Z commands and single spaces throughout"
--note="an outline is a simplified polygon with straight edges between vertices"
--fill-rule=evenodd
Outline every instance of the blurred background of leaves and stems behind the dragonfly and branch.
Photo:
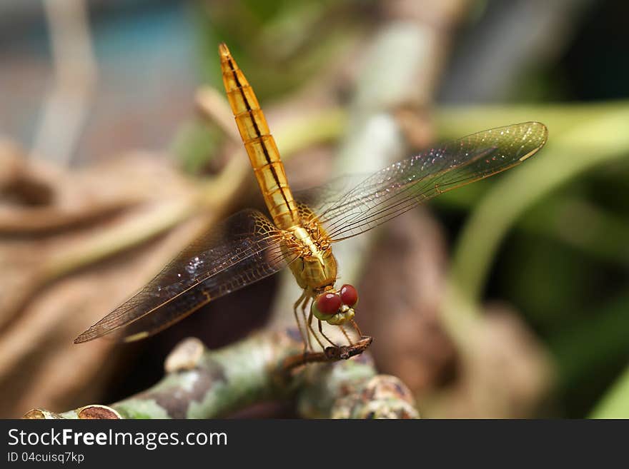
M 220 41 L 295 188 L 545 123 L 522 166 L 335 246 L 342 281 L 426 417 L 629 417 L 628 18 L 620 0 L 1 2 L 0 417 L 112 403 L 182 338 L 292 320 L 282 273 L 146 341 L 72 343 L 200 226 L 264 210 Z

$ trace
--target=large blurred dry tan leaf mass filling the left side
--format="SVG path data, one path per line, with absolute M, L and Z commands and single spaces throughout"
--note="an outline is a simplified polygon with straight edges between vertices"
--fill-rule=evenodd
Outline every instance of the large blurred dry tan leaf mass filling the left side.
M 78 214 L 80 223 L 54 231 L 46 226 L 36 236 L 14 233 L 0 238 L 2 417 L 18 417 L 41 405 L 60 409 L 98 400 L 123 349 L 107 340 L 79 346 L 74 337 L 143 286 L 207 222 L 204 213 L 193 214 L 150 242 L 91 262 L 94 240 L 117 233 L 121 226 L 134 226 L 131 223 L 142 216 L 159 216 L 172 199 L 190 196 L 196 189 L 157 155 L 129 154 L 119 161 L 54 175 L 41 165 L 16 164 L 21 169 L 15 174 L 37 173 L 54 193 L 38 210 L 52 218 Z M 134 202 L 115 216 L 93 216 L 117 200 Z M 7 225 L 20 226 L 34 216 L 33 207 L 19 199 L 5 202 L 11 206 L 2 214 Z M 55 273 L 58 264 L 81 256 L 82 249 L 86 261 L 81 270 L 69 265 Z

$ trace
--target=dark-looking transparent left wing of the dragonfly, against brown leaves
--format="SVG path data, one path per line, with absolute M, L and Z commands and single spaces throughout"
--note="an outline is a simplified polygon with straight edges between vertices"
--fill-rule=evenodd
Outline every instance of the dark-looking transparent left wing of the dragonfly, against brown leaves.
M 150 336 L 220 296 L 276 273 L 297 258 L 259 211 L 240 211 L 212 227 L 147 286 L 77 337 L 117 332 L 126 341 Z

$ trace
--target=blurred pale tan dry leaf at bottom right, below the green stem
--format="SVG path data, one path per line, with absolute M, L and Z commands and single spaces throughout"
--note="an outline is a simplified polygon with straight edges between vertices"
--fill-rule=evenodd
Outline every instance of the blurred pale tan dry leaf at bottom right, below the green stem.
M 505 306 L 489 308 L 460 356 L 458 378 L 423 409 L 432 418 L 530 418 L 553 383 L 549 355 Z

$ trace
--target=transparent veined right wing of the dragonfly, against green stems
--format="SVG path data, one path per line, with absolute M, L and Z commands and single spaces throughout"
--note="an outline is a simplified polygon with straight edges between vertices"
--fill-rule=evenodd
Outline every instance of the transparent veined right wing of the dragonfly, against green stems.
M 487 178 L 533 156 L 546 143 L 543 123 L 525 122 L 472 133 L 412 156 L 325 201 L 317 211 L 332 241 L 356 236 L 440 193 Z M 322 191 L 327 193 L 327 191 Z

